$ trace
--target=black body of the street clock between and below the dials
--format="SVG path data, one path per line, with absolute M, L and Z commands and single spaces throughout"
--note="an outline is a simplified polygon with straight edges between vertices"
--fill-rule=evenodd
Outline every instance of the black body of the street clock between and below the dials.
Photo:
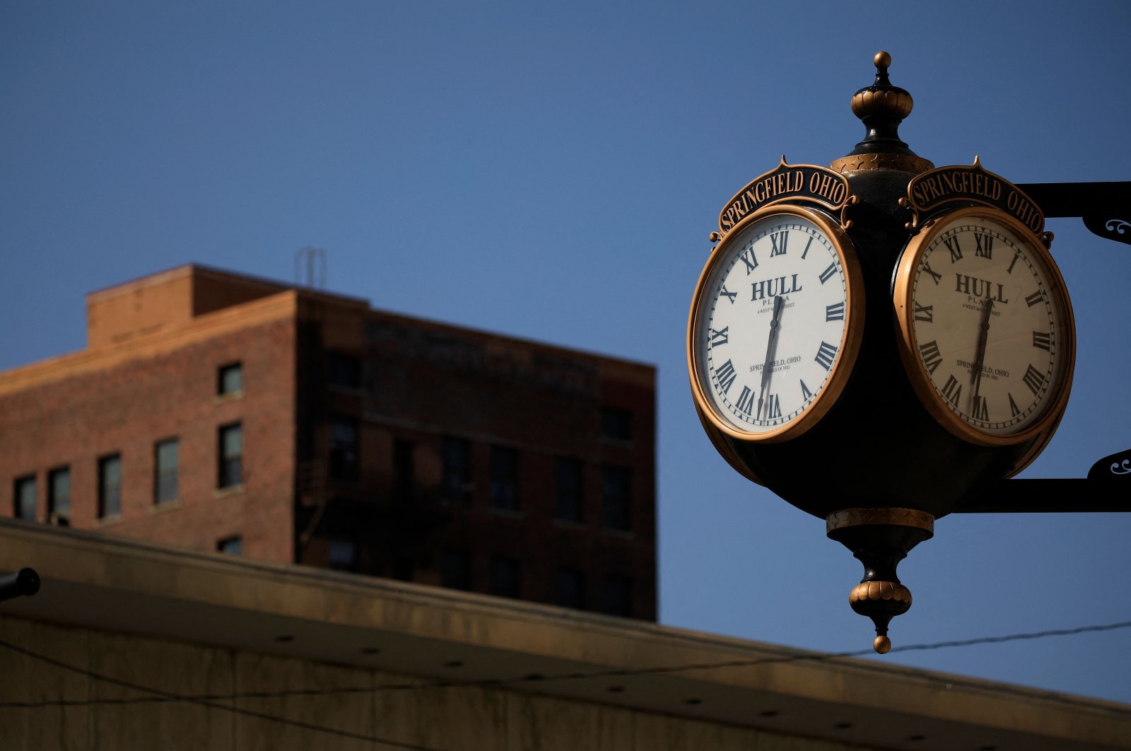
M 891 299 L 909 236 L 899 199 L 915 173 L 875 169 L 845 176 L 858 199 L 847 234 L 860 260 L 866 313 L 844 391 L 817 425 L 788 441 L 753 443 L 703 424 L 736 469 L 813 516 L 913 508 L 942 517 L 979 486 L 1013 474 L 1046 437 L 979 446 L 955 435 L 924 407 L 900 361 Z

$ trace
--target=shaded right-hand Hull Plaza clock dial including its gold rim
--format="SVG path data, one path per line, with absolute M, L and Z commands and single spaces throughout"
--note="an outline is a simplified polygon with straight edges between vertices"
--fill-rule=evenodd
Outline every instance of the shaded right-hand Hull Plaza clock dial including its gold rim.
M 1047 440 L 1068 403 L 1076 325 L 1031 230 L 995 208 L 943 214 L 907 243 L 892 294 L 900 357 L 935 420 L 982 446 Z

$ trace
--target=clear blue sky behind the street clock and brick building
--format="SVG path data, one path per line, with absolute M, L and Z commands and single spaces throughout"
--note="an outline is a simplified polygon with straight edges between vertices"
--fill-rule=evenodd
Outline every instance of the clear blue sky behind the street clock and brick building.
M 664 623 L 866 648 L 858 563 L 735 474 L 691 407 L 688 309 L 719 208 L 863 137 L 1013 182 L 1131 180 L 1123 2 L 0 6 L 0 369 L 81 348 L 84 295 L 195 261 L 654 363 Z M 1128 217 L 1131 218 L 1131 217 Z M 1027 476 L 1131 448 L 1131 248 L 1051 219 L 1076 383 Z M 882 463 L 882 458 L 878 458 Z M 814 469 L 819 471 L 819 467 Z M 1131 513 L 952 516 L 900 566 L 898 647 L 1131 620 Z M 883 661 L 1131 701 L 1131 630 Z

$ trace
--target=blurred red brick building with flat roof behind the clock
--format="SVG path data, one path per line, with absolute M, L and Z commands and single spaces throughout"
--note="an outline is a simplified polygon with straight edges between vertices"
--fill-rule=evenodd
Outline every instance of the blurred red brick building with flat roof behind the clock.
M 655 619 L 651 366 L 199 266 L 87 334 L 0 373 L 0 515 Z

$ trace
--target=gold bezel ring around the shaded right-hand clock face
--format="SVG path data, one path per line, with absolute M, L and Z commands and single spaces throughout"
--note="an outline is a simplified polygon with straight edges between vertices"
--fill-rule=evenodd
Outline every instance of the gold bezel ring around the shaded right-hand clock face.
M 977 217 L 998 222 L 1009 227 L 1022 243 L 1027 245 L 1030 256 L 1036 256 L 1037 261 L 1044 266 L 1046 271 L 1045 283 L 1050 295 L 1053 297 L 1053 305 L 1060 307 L 1064 311 L 1067 336 L 1064 346 L 1064 366 L 1055 374 L 1056 382 L 1050 383 L 1050 396 L 1045 404 L 1041 406 L 1042 414 L 1033 424 L 1015 433 L 990 433 L 975 425 L 969 424 L 959 417 L 938 392 L 931 380 L 931 374 L 926 372 L 923 360 L 920 357 L 915 340 L 914 321 L 910 312 L 912 296 L 914 294 L 914 275 L 918 268 L 923 253 L 931 243 L 956 222 L 968 217 Z M 987 206 L 968 206 L 952 209 L 946 214 L 930 219 L 922 231 L 907 241 L 904 247 L 899 262 L 896 265 L 895 283 L 891 293 L 896 312 L 896 329 L 899 348 L 899 357 L 904 363 L 904 370 L 912 382 L 915 395 L 940 424 L 951 433 L 970 443 L 981 446 L 1017 446 L 1026 441 L 1038 438 L 1042 433 L 1050 432 L 1056 428 L 1068 404 L 1069 391 L 1072 386 L 1072 373 L 1076 369 L 1076 317 L 1072 313 L 1072 303 L 1068 295 L 1068 287 L 1064 277 L 1061 276 L 1052 253 L 1045 248 L 1041 239 L 1034 234 L 1025 224 L 1013 218 L 1009 214 Z M 1028 457 L 1028 460 L 1036 455 Z M 1028 461 L 1025 461 L 1028 464 Z M 1022 465 L 1024 466 L 1024 465 Z M 1019 466 L 1015 472 L 1019 472 Z

